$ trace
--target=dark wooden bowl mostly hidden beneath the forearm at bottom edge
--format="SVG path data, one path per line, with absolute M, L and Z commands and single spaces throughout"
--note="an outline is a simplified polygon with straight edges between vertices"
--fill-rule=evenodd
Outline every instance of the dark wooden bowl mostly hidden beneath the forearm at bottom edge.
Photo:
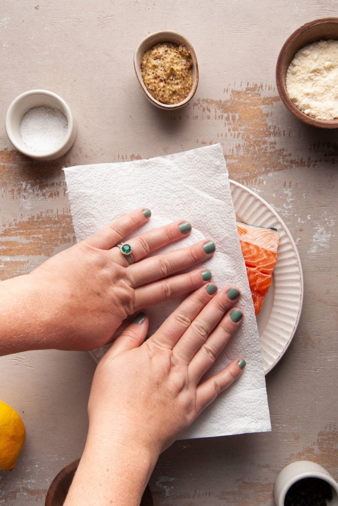
M 74 478 L 75 471 L 80 459 L 76 459 L 68 466 L 64 467 L 59 474 L 56 475 L 47 491 L 44 506 L 62 506 L 65 502 L 69 487 Z M 90 480 L 90 476 L 88 477 Z M 143 492 L 140 506 L 153 506 L 153 496 L 147 485 Z

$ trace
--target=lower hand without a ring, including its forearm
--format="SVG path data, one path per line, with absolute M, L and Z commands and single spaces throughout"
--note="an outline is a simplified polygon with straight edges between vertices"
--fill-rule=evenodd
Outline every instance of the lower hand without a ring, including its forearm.
M 208 284 L 147 341 L 144 313 L 124 329 L 96 368 L 87 441 L 65 506 L 140 503 L 161 451 L 242 373 L 245 361 L 236 358 L 203 379 L 242 320 L 238 297 L 236 288 L 216 293 Z

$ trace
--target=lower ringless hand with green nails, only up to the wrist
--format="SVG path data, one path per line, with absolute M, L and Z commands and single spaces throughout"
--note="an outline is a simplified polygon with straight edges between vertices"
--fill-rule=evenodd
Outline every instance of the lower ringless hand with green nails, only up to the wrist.
M 215 289 L 208 284 L 190 294 L 145 342 L 144 314 L 123 331 L 94 374 L 89 442 L 97 438 L 106 449 L 121 445 L 155 465 L 158 455 L 242 373 L 245 361 L 236 358 L 202 379 L 243 317 L 233 308 L 239 291 Z

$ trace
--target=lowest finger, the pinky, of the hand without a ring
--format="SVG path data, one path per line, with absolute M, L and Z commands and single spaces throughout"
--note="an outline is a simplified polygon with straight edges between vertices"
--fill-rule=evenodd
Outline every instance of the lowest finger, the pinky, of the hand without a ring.
M 218 395 L 228 388 L 243 373 L 246 361 L 236 358 L 220 372 L 197 387 L 196 411 L 200 414 Z

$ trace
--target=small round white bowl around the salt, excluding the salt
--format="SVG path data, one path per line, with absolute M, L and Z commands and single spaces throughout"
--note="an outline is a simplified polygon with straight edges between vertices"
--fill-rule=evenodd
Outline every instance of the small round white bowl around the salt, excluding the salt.
M 39 152 L 27 146 L 20 134 L 20 125 L 23 116 L 33 107 L 52 107 L 59 109 L 67 119 L 67 131 L 62 141 L 53 149 Z M 6 133 L 13 146 L 30 158 L 36 160 L 55 160 L 69 151 L 75 141 L 76 124 L 73 114 L 67 103 L 53 92 L 47 90 L 30 90 L 22 93 L 13 100 L 6 114 Z

